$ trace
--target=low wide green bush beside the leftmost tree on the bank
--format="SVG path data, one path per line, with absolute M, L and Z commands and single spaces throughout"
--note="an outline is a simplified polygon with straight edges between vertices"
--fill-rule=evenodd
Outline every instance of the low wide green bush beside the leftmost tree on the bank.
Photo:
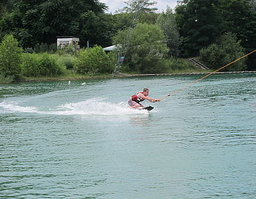
M 24 54 L 22 75 L 24 76 L 57 76 L 64 73 L 64 66 L 57 62 L 57 58 L 49 53 Z

